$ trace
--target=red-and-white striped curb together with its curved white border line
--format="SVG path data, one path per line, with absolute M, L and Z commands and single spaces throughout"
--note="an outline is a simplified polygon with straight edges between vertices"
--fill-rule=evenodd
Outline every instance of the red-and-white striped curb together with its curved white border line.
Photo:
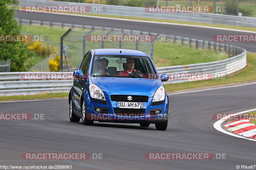
M 255 109 L 251 109 L 251 110 L 246 110 L 243 112 L 239 112 L 233 115 L 237 115 L 237 114 L 244 114 L 244 113 L 249 113 L 249 112 L 253 112 L 255 111 Z M 217 122 L 214 123 L 214 128 L 219 130 L 222 133 L 234 136 L 234 137 L 239 137 L 239 138 L 243 138 L 243 139 L 247 139 L 247 140 L 252 140 L 252 141 L 256 141 L 256 125 L 252 124 L 251 122 L 249 122 L 248 119 L 240 119 L 240 120 L 236 120 L 233 122 L 228 122 L 226 124 L 224 124 L 225 128 L 228 128 L 227 130 L 224 130 L 221 127 L 221 124 L 228 120 L 228 117 L 232 117 L 233 115 L 228 115 L 223 117 L 222 119 L 218 120 Z M 231 133 L 229 131 L 233 131 L 234 133 Z

